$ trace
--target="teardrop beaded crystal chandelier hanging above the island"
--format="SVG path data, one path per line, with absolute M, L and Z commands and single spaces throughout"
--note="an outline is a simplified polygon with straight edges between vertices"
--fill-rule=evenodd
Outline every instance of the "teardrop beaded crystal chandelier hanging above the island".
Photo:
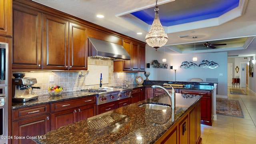
M 146 43 L 149 46 L 155 48 L 156 50 L 157 50 L 157 48 L 164 46 L 168 40 L 168 36 L 164 32 L 164 28 L 160 22 L 158 10 L 159 10 L 159 8 L 157 5 L 157 0 L 156 0 L 156 8 L 154 9 L 155 18 L 154 18 L 154 21 L 152 23 L 152 26 L 151 26 L 148 34 L 146 34 L 146 37 L 145 37 Z

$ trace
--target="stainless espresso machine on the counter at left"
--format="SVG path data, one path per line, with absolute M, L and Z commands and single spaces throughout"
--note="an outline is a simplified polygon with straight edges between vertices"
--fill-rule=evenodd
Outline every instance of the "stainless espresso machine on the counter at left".
M 36 78 L 12 78 L 12 102 L 26 102 L 31 99 L 37 99 L 38 95 L 33 92 Z

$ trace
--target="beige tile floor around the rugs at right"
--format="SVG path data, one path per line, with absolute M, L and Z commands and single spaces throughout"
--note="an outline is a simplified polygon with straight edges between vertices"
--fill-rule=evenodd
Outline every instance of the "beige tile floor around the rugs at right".
M 201 124 L 203 144 L 256 144 L 256 95 L 247 88 L 247 95 L 230 94 L 230 88 L 228 99 L 239 100 L 244 118 L 217 114 L 212 126 Z

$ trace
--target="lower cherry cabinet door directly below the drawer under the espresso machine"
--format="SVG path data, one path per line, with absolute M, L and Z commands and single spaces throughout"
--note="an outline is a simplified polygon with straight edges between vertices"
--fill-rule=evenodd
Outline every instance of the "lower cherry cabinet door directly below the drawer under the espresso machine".
M 12 144 L 36 144 L 32 136 L 44 135 L 50 131 L 50 114 L 18 120 L 12 123 Z

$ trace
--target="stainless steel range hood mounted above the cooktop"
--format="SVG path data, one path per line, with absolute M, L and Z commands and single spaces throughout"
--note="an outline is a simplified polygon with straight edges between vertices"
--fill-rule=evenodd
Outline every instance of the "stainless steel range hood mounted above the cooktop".
M 131 56 L 122 45 L 88 37 L 88 58 L 130 60 Z

